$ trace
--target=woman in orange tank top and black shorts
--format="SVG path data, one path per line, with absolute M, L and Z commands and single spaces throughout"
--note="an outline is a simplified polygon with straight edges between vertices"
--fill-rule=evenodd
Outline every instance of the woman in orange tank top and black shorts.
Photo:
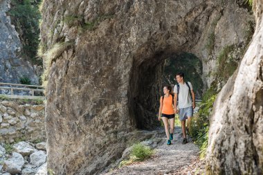
M 171 145 L 171 140 L 173 139 L 174 133 L 174 95 L 172 95 L 172 87 L 164 86 L 163 87 L 164 95 L 161 96 L 160 99 L 160 109 L 158 120 L 163 120 L 163 124 L 165 125 L 165 133 L 167 136 L 167 145 Z M 169 131 L 169 123 L 170 122 L 170 131 Z

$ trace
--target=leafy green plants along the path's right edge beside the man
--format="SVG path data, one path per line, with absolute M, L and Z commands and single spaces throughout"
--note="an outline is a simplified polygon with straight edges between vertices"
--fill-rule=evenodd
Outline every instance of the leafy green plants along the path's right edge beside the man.
M 194 143 L 200 148 L 200 158 L 206 156 L 206 148 L 208 147 L 209 116 L 212 113 L 215 98 L 216 95 L 212 95 L 208 100 L 201 102 L 199 113 L 192 118 L 190 126 L 190 135 L 192 136 Z

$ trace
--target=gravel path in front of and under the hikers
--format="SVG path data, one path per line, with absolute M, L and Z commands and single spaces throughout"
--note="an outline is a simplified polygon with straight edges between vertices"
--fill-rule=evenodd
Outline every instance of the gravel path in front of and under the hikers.
M 199 160 L 199 148 L 189 138 L 183 145 L 181 127 L 175 128 L 172 145 L 166 145 L 164 129 L 158 131 L 162 141 L 155 148 L 156 154 L 148 160 L 115 169 L 111 174 L 203 174 L 204 163 Z

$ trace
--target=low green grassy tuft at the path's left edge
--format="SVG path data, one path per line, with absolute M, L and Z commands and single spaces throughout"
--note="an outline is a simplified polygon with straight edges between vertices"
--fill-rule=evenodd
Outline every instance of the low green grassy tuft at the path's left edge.
M 149 147 L 142 145 L 141 143 L 135 144 L 131 149 L 131 154 L 129 156 L 129 160 L 123 160 L 119 167 L 123 167 L 125 165 L 129 165 L 136 161 L 143 161 L 147 158 L 150 158 L 154 154 L 154 151 Z

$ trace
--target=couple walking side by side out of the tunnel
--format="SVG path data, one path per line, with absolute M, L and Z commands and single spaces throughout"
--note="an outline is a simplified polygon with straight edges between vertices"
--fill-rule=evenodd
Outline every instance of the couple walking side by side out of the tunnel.
M 163 93 L 160 99 L 160 109 L 158 113 L 158 120 L 163 120 L 165 125 L 165 133 L 167 136 L 167 145 L 171 145 L 174 134 L 174 115 L 179 112 L 179 120 L 183 132 L 183 144 L 187 143 L 186 131 L 190 128 L 191 118 L 193 116 L 193 109 L 195 108 L 194 91 L 190 82 L 184 81 L 184 74 L 176 74 L 177 85 L 174 86 L 174 94 L 171 86 L 164 86 Z M 178 101 L 178 104 L 177 104 Z M 177 109 L 178 107 L 178 109 Z M 185 120 L 188 119 L 187 127 L 185 127 Z M 170 130 L 169 130 L 169 122 Z M 188 130 L 189 131 L 189 130 Z

